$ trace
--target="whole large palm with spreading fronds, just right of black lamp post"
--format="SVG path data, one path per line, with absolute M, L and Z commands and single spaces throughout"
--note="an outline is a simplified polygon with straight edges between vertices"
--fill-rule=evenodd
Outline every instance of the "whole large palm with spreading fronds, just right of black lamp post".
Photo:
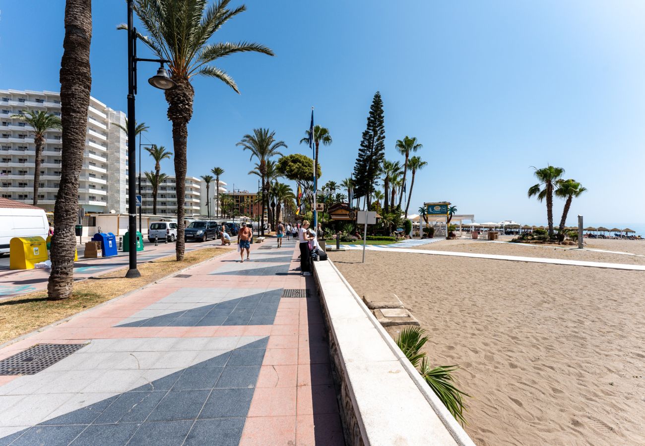
M 134 0 L 134 11 L 139 16 L 148 37 L 138 35 L 159 59 L 169 60 L 173 90 L 166 90 L 168 119 L 172 121 L 172 140 L 175 151 L 175 179 L 177 197 L 186 193 L 186 143 L 188 122 L 193 115 L 195 90 L 190 78 L 195 75 L 214 77 L 239 93 L 233 78 L 212 65 L 217 59 L 241 52 L 273 55 L 270 48 L 249 42 L 213 43 L 209 39 L 221 26 L 246 10 L 240 5 L 228 8 L 230 0 L 219 0 L 208 5 L 207 0 Z M 120 25 L 120 29 L 126 26 Z M 184 200 L 177 200 L 177 260 L 184 258 Z

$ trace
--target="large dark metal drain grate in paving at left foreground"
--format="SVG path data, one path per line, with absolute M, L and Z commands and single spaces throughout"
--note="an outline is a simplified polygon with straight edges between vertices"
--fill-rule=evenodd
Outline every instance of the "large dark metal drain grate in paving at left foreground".
M 36 344 L 0 361 L 0 375 L 36 374 L 87 344 Z

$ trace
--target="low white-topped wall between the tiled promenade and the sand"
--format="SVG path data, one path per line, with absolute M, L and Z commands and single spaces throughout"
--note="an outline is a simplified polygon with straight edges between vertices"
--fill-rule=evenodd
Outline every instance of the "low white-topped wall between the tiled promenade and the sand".
M 475 446 L 333 263 L 313 265 L 348 444 Z

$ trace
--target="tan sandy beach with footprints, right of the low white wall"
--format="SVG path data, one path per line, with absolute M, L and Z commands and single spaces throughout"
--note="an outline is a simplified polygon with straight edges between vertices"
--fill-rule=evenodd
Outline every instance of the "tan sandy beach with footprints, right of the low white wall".
M 630 247 L 602 243 L 613 241 L 593 244 Z M 449 248 L 574 255 L 461 240 L 426 247 Z M 597 255 L 606 254 L 581 260 Z M 368 251 L 365 264 L 361 251 L 330 258 L 359 295 L 399 295 L 428 330 L 434 365 L 461 365 L 473 397 L 465 428 L 478 445 L 645 444 L 645 273 L 387 251 Z M 619 258 L 598 261 L 642 262 Z

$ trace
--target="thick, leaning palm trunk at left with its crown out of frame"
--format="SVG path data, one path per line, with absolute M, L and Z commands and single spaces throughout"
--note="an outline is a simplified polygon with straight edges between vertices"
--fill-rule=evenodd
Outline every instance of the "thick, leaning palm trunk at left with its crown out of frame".
M 64 21 L 65 37 L 60 71 L 63 156 L 61 180 L 54 205 L 56 233 L 52 237 L 52 272 L 47 284 L 47 298 L 50 300 L 68 298 L 72 295 L 74 282 L 74 225 L 78 219 L 79 175 L 83 167 L 92 88 L 92 1 L 67 0 Z

